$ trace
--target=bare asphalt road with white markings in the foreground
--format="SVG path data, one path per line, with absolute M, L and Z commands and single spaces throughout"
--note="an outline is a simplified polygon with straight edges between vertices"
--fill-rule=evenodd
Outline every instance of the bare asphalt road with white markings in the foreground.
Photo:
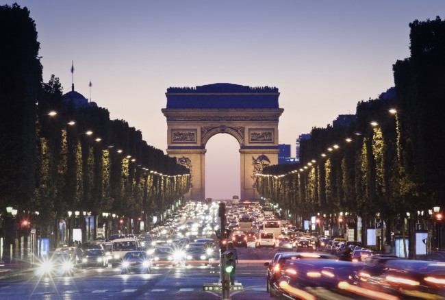
M 270 299 L 266 292 L 266 266 L 274 249 L 238 248 L 236 281 L 243 290 L 232 290 L 231 299 Z M 157 266 L 152 274 L 120 275 L 119 268 L 78 268 L 73 277 L 38 278 L 31 274 L 0 280 L 0 299 L 212 299 L 218 290 L 204 290 L 219 281 L 218 267 Z M 318 299 L 358 299 L 323 288 L 307 289 Z

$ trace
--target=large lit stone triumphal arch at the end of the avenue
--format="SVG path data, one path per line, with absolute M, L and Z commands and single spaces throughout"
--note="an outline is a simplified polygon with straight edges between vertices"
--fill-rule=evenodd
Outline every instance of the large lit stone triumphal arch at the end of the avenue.
M 255 174 L 278 164 L 278 88 L 209 84 L 168 88 L 166 97 L 166 151 L 192 173 L 186 199 L 205 199 L 205 145 L 220 133 L 240 144 L 241 199 L 257 199 Z

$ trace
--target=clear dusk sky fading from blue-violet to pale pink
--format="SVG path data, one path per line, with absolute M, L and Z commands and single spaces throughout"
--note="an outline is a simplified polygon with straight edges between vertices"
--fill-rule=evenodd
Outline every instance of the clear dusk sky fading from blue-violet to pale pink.
M 60 78 L 167 147 L 165 92 L 214 83 L 279 88 L 279 142 L 290 144 L 394 86 L 409 23 L 445 18 L 444 0 L 0 0 L 36 21 L 44 81 Z M 92 82 L 91 94 L 89 83 Z M 235 138 L 207 143 L 206 197 L 240 194 Z

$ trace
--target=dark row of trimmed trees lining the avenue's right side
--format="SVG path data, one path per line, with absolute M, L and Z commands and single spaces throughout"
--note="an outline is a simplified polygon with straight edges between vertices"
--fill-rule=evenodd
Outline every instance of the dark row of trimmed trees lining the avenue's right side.
M 445 22 L 409 27 L 411 56 L 393 65 L 395 88 L 359 102 L 348 126 L 313 128 L 299 164 L 257 177 L 262 196 L 305 219 L 350 212 L 365 226 L 377 214 L 394 225 L 444 207 Z

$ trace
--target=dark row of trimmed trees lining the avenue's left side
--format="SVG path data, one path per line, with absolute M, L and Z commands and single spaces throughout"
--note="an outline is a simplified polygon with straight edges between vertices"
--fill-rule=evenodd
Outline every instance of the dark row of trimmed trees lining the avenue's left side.
M 8 28 L 0 31 L 3 211 L 38 211 L 42 225 L 68 210 L 137 218 L 142 211 L 164 212 L 188 191 L 188 168 L 147 145 L 140 131 L 110 120 L 105 108 L 64 101 L 54 75 L 43 83 L 36 25 L 27 8 L 0 6 L 0 28 Z

